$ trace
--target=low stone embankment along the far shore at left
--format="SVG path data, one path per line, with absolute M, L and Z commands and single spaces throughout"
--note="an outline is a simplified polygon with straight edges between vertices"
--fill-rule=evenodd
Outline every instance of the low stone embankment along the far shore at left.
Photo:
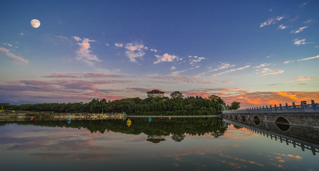
M 25 120 L 100 120 L 124 119 L 124 113 L 0 113 L 0 122 L 25 121 Z

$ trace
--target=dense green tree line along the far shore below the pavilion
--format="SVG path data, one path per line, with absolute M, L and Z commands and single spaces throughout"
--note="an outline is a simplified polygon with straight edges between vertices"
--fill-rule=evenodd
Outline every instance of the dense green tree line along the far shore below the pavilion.
M 10 105 L 0 103 L 3 109 L 33 112 L 53 113 L 122 113 L 130 115 L 218 115 L 225 102 L 216 95 L 207 98 L 190 96 L 183 98 L 182 93 L 174 91 L 168 97 L 139 97 L 107 101 L 93 99 L 89 103 L 37 103 Z M 240 106 L 233 102 L 229 109 L 235 110 Z

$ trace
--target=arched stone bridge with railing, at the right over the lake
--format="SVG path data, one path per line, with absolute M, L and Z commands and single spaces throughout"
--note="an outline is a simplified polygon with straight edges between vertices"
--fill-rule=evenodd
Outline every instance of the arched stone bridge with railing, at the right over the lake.
M 319 129 L 319 104 L 312 100 L 311 104 L 301 102 L 301 105 L 282 106 L 268 108 L 247 108 L 231 111 L 223 111 L 223 118 L 231 121 L 260 123 L 276 123 L 299 127 Z

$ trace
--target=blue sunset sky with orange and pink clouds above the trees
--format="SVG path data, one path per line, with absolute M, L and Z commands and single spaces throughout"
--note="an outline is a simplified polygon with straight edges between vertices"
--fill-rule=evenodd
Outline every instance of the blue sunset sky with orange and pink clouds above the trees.
M 0 103 L 319 102 L 319 1 L 4 1 Z M 34 28 L 30 21 L 38 19 Z

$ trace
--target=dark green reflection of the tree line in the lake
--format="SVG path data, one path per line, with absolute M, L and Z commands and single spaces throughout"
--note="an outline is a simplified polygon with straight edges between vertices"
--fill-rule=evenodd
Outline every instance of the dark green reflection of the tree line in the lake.
M 228 128 L 228 124 L 220 118 L 153 118 L 152 122 L 148 118 L 130 118 L 132 124 L 127 126 L 125 120 L 75 120 L 67 124 L 66 121 L 28 121 L 28 122 L 10 122 L 0 123 L 17 125 L 34 125 L 41 127 L 65 127 L 81 129 L 85 128 L 91 133 L 104 133 L 105 131 L 119 132 L 123 134 L 146 134 L 151 136 L 169 136 L 176 142 L 184 138 L 184 134 L 204 135 L 211 134 L 218 138 L 224 134 Z

